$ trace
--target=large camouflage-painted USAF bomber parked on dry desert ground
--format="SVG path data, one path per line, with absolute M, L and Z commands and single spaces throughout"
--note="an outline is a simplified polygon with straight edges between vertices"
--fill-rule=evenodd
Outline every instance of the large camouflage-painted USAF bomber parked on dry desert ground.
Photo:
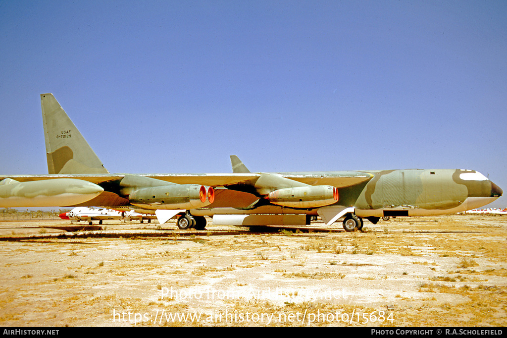
M 473 170 L 250 173 L 237 156 L 232 174 L 110 174 L 53 94 L 41 94 L 41 104 L 49 175 L 0 176 L 0 207 L 136 208 L 160 223 L 178 216 L 180 229 L 204 229 L 204 216 L 246 226 L 345 217 L 354 231 L 364 218 L 453 214 L 502 195 Z

